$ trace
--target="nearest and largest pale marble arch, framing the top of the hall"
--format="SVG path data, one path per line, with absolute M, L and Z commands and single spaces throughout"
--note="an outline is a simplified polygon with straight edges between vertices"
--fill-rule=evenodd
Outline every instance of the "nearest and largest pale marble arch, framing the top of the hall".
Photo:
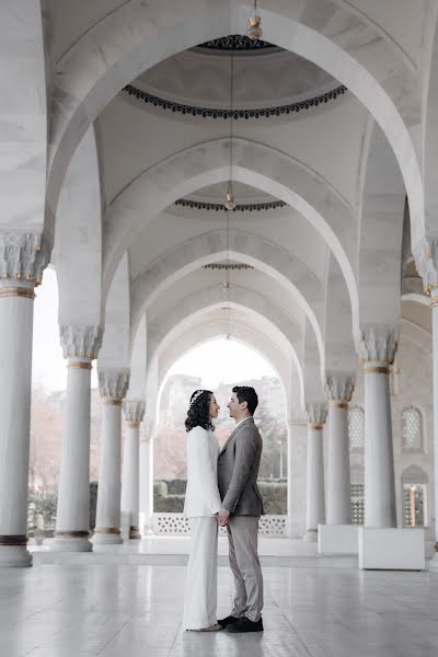
M 148 2 L 147 11 L 140 3 L 126 2 L 80 38 L 59 62 L 56 77 L 59 88 L 55 93 L 59 112 L 54 120 L 47 194 L 48 228 L 54 222 L 66 168 L 83 132 L 105 104 L 125 84 L 170 55 L 229 34 L 230 25 L 241 33 L 245 30 L 247 8 L 243 2 L 223 2 L 218 7 L 192 0 L 184 7 L 170 2 L 165 10 L 168 13 L 158 0 Z M 270 11 L 262 10 L 261 15 L 266 39 L 313 61 L 346 84 L 381 126 L 403 173 L 416 245 L 424 235 L 422 175 L 411 136 L 391 92 L 379 82 L 376 71 L 368 70 L 315 28 L 299 22 L 300 15 L 293 8 L 273 7 Z M 127 25 L 136 28 L 127 31 Z M 376 62 L 369 64 L 372 66 Z

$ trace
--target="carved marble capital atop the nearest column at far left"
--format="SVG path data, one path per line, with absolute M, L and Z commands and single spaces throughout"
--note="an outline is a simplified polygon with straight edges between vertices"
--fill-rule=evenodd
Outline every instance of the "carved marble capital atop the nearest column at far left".
M 35 232 L 0 231 L 0 277 L 39 285 L 50 250 Z

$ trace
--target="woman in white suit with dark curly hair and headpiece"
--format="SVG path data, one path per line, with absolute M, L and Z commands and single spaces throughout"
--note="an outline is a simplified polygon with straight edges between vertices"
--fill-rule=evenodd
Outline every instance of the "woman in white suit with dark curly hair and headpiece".
M 221 507 L 217 463 L 219 443 L 212 419 L 219 404 L 209 390 L 195 390 L 185 420 L 187 430 L 187 489 L 184 515 L 192 519 L 192 546 L 183 626 L 185 630 L 221 630 L 216 619 L 218 579 L 218 521 Z

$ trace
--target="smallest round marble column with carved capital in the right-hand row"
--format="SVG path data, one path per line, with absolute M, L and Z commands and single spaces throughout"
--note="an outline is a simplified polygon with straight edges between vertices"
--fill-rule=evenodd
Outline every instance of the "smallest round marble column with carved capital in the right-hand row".
M 306 534 L 303 540 L 318 540 L 318 526 L 325 522 L 323 428 L 326 418 L 325 404 L 307 404 L 308 416 L 308 468 Z

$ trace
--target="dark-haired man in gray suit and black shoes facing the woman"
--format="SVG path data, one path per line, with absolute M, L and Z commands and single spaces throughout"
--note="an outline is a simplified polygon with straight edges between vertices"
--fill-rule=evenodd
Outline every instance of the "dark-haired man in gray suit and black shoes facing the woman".
M 218 460 L 222 508 L 218 522 L 227 526 L 235 596 L 231 614 L 218 621 L 228 632 L 263 632 L 263 577 L 257 554 L 258 520 L 263 514 L 257 474 L 262 437 L 253 414 L 258 404 L 254 388 L 235 385 L 228 404 L 235 428 Z

